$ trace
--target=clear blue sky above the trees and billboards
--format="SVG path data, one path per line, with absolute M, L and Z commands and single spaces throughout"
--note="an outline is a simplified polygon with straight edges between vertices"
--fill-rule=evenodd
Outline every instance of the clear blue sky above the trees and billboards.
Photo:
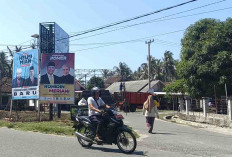
M 1 46 L 1 44 L 16 45 L 32 39 L 30 37 L 32 34 L 39 33 L 40 22 L 56 22 L 67 33 L 73 34 L 186 1 L 188 0 L 1 0 L 0 50 L 6 49 L 6 46 Z M 163 20 L 121 29 L 103 35 L 88 36 L 110 31 L 120 26 L 162 18 L 219 1 L 221 0 L 197 0 L 196 2 L 114 26 L 113 28 L 71 38 L 70 52 L 75 52 L 75 67 L 77 69 L 112 69 L 114 66 L 118 66 L 119 62 L 125 62 L 134 71 L 142 63 L 146 62 L 147 45 L 145 41 L 153 38 L 155 39 L 155 42 L 151 45 L 151 55 L 153 57 L 161 59 L 163 53 L 169 50 L 174 54 L 175 59 L 179 59 L 181 50 L 180 41 L 184 32 L 169 32 L 184 30 L 203 18 L 215 18 L 224 21 L 226 18 L 231 17 L 232 9 L 179 19 Z M 168 18 L 228 7 L 232 7 L 231 0 L 222 1 L 215 5 Z M 88 38 L 77 40 L 82 37 Z M 94 48 L 102 46 L 99 43 L 123 42 L 141 38 L 144 39 L 137 42 Z M 30 42 L 24 44 L 30 44 Z

